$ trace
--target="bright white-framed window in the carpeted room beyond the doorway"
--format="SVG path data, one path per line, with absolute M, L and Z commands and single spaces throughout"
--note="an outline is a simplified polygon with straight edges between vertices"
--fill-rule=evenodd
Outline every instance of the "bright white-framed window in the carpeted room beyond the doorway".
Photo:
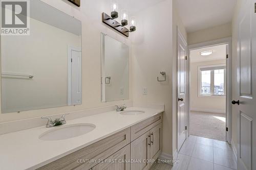
M 199 95 L 225 95 L 225 65 L 199 67 Z

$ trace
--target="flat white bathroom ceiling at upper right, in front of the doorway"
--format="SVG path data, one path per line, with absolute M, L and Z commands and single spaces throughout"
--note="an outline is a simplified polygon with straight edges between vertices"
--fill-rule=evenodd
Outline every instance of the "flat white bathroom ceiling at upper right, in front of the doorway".
M 177 0 L 188 33 L 231 22 L 237 0 Z

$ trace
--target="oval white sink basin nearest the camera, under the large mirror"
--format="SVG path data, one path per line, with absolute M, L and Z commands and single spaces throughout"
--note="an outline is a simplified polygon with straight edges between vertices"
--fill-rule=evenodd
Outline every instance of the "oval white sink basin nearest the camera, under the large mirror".
M 41 140 L 62 140 L 84 135 L 96 128 L 93 124 L 66 125 L 49 130 L 39 136 Z

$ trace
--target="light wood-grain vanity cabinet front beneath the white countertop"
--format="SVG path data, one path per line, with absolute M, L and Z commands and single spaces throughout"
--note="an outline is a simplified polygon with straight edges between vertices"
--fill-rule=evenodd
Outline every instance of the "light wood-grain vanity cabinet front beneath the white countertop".
M 153 164 L 150 160 L 156 160 L 161 152 L 161 132 L 162 114 L 160 113 L 42 166 L 38 170 L 149 169 Z M 142 162 L 130 163 L 137 160 Z

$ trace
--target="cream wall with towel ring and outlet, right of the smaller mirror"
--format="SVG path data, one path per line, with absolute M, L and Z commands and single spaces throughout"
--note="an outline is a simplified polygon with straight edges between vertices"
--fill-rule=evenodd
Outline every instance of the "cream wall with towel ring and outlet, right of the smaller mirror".
M 133 99 L 138 103 L 165 104 L 163 152 L 173 156 L 177 148 L 177 100 L 173 97 L 177 95 L 173 86 L 177 79 L 177 26 L 185 38 L 186 31 L 172 0 L 140 11 L 137 23 L 138 30 L 133 35 Z M 166 72 L 166 82 L 157 81 L 160 71 Z M 147 87 L 147 95 L 143 95 L 143 87 Z

